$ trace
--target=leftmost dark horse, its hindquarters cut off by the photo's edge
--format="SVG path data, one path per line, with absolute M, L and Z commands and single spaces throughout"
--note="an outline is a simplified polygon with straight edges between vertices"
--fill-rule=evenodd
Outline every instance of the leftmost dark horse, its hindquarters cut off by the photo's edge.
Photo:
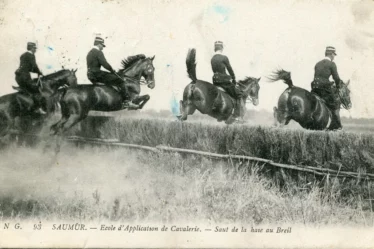
M 51 104 L 49 98 L 57 92 L 58 88 L 77 84 L 76 71 L 62 69 L 38 79 L 39 93 L 47 105 L 47 111 Z M 18 130 L 15 124 L 17 117 L 30 116 L 31 119 L 40 119 L 40 115 L 34 112 L 35 103 L 31 94 L 20 87 L 13 86 L 13 88 L 18 92 L 0 97 L 0 137 L 4 137 L 10 131 Z M 48 117 L 49 114 L 50 112 L 47 112 L 43 119 Z

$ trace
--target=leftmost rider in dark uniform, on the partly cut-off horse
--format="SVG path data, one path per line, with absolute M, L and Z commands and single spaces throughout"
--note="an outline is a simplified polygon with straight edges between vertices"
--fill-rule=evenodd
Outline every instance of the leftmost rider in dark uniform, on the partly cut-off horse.
M 46 114 L 41 108 L 42 96 L 39 93 L 38 79 L 32 79 L 30 75 L 30 73 L 36 73 L 38 74 L 38 78 L 43 76 L 43 73 L 36 64 L 36 50 L 36 43 L 27 43 L 27 52 L 23 53 L 20 57 L 20 66 L 15 71 L 15 78 L 20 88 L 31 95 L 33 109 L 36 109 L 37 113 Z

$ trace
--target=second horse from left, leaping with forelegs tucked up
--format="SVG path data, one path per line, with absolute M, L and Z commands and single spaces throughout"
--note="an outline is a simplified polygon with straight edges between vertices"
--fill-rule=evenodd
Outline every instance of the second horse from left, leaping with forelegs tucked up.
M 117 76 L 123 79 L 119 88 L 127 87 L 133 103 L 139 105 L 137 109 L 142 109 L 150 99 L 148 94 L 139 96 L 141 77 L 144 77 L 150 89 L 155 87 L 154 58 L 155 56 L 147 58 L 142 54 L 129 56 L 122 60 L 123 68 L 116 72 Z M 77 85 L 60 91 L 54 99 L 54 103 L 58 102 L 61 106 L 62 117 L 51 126 L 52 135 L 61 135 L 85 119 L 91 110 L 103 112 L 123 110 L 120 90 L 106 85 Z

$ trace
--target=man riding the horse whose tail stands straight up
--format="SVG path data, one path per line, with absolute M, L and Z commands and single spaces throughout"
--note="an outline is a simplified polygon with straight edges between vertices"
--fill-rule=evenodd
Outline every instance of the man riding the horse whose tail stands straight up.
M 231 97 L 235 99 L 234 112 L 232 117 L 238 121 L 240 117 L 242 92 L 235 81 L 235 74 L 230 65 L 230 61 L 226 55 L 223 55 L 223 42 L 216 41 L 214 43 L 214 56 L 211 59 L 213 70 L 213 85 L 223 88 Z M 226 70 L 230 75 L 226 73 Z M 214 101 L 213 110 L 219 106 L 219 97 Z

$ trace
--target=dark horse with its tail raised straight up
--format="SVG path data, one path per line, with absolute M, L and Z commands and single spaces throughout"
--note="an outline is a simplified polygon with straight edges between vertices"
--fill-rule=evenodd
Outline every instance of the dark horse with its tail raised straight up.
M 192 115 L 195 110 L 199 110 L 203 114 L 207 114 L 218 122 L 225 121 L 231 124 L 234 119 L 230 118 L 234 110 L 235 100 L 227 94 L 223 89 L 219 89 L 215 85 L 198 80 L 196 77 L 196 50 L 190 49 L 186 58 L 186 66 L 188 77 L 192 80 L 184 88 L 183 100 L 180 103 L 181 121 L 187 120 L 188 115 Z M 259 103 L 258 92 L 260 90 L 259 81 L 261 78 L 246 77 L 244 80 L 238 81 L 239 88 L 242 90 L 243 97 L 241 101 L 244 103 L 247 99 L 257 106 Z M 213 103 L 218 97 L 218 108 L 214 108 Z M 243 106 L 243 105 L 242 105 Z M 244 116 L 244 110 L 241 108 L 241 118 Z

